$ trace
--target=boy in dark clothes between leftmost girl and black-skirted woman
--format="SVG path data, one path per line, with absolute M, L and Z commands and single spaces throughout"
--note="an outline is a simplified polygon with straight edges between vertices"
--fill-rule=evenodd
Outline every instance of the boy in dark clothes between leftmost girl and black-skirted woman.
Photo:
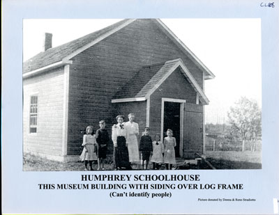
M 98 143 L 98 170 L 105 170 L 105 158 L 107 155 L 107 144 L 110 142 L 110 136 L 105 129 L 105 120 L 100 120 L 100 129 L 96 132 L 96 141 Z

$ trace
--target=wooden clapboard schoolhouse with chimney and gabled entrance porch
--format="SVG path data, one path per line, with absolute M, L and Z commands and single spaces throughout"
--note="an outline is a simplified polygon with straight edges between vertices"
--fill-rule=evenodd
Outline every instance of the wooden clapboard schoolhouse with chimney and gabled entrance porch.
M 115 116 L 135 113 L 140 133 L 172 129 L 176 157 L 194 158 L 213 78 L 160 19 L 123 19 L 58 47 L 46 33 L 45 49 L 23 65 L 24 152 L 77 160 L 87 125 L 105 120 L 111 134 Z

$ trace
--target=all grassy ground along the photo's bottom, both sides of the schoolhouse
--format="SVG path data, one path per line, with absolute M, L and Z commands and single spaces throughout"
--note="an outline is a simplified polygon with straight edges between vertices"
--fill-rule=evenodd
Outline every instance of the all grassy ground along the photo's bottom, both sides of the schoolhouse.
M 206 151 L 206 160 L 209 161 L 216 169 L 260 169 L 262 168 L 262 152 L 245 151 Z M 205 162 L 197 165 L 183 165 L 183 159 L 176 159 L 177 163 L 182 166 L 174 166 L 176 169 L 211 169 Z M 61 163 L 51 161 L 31 154 L 24 154 L 23 170 L 24 171 L 84 171 L 84 163 L 80 161 Z M 97 170 L 97 163 L 93 164 L 93 169 Z M 133 170 L 140 170 L 140 164 L 132 164 Z M 149 170 L 152 164 L 149 162 Z M 162 169 L 165 169 L 163 166 Z M 105 161 L 105 170 L 114 170 L 112 157 L 107 157 Z

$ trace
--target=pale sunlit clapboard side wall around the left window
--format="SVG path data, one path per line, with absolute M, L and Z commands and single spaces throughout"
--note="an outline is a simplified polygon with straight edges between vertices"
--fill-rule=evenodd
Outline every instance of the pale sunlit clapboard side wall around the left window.
M 63 81 L 63 67 L 23 80 L 24 151 L 61 155 Z M 38 127 L 36 134 L 29 134 L 31 95 L 38 95 Z

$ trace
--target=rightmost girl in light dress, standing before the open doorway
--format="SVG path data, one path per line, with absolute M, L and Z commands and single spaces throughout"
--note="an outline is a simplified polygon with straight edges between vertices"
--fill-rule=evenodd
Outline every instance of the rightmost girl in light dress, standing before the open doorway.
M 164 138 L 164 161 L 167 166 L 167 170 L 172 170 L 172 164 L 175 164 L 174 147 L 176 147 L 176 140 L 172 135 L 172 129 L 167 129 L 167 137 Z

